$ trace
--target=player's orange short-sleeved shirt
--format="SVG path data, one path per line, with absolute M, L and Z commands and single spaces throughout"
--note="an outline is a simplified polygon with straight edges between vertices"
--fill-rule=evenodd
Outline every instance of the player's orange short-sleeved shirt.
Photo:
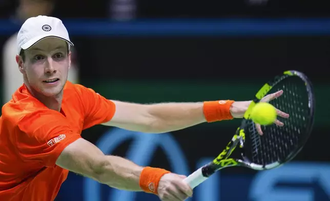
M 70 82 L 60 112 L 48 109 L 25 85 L 12 97 L 0 117 L 0 200 L 54 200 L 69 172 L 55 165 L 57 157 L 82 130 L 108 122 L 115 105 Z

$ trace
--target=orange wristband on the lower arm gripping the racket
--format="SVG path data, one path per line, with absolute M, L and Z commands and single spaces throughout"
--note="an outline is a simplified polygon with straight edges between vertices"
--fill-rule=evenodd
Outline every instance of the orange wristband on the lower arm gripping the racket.
M 146 193 L 154 193 L 157 195 L 159 180 L 164 174 L 167 173 L 170 173 L 170 171 L 152 167 L 143 168 L 139 182 L 141 189 Z

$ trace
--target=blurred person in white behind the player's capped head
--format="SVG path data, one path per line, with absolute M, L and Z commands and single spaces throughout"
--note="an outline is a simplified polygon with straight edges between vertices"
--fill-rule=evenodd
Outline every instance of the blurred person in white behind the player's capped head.
M 11 16 L 11 20 L 23 24 L 26 19 L 38 15 L 52 15 L 55 7 L 55 0 L 19 0 L 18 7 Z M 19 72 L 15 60 L 17 33 L 8 38 L 3 46 L 3 102 L 7 103 L 11 95 L 23 84 L 23 75 Z M 75 59 L 74 48 L 72 51 L 72 64 L 68 80 L 78 83 L 78 68 Z

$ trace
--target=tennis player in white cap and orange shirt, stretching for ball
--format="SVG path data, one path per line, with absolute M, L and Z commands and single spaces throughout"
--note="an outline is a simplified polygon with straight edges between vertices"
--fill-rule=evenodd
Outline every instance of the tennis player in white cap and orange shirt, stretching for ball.
M 184 175 L 105 155 L 81 138 L 81 131 L 97 124 L 148 133 L 175 131 L 240 118 L 250 102 L 142 105 L 108 100 L 67 81 L 72 46 L 58 18 L 29 18 L 18 32 L 16 61 L 24 84 L 0 117 L 0 200 L 54 200 L 69 171 L 113 188 L 153 193 L 164 201 L 192 196 Z

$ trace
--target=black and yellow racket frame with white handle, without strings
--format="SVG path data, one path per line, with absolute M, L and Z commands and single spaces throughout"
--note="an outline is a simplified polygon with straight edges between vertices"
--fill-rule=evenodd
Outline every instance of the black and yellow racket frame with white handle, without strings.
M 250 120 L 251 111 L 254 108 L 254 106 L 257 103 L 259 103 L 260 100 L 272 89 L 273 86 L 275 86 L 277 83 L 281 82 L 283 79 L 287 78 L 288 76 L 299 76 L 302 79 L 302 81 L 305 83 L 308 93 L 308 105 L 310 106 L 310 111 L 312 116 L 312 118 L 310 118 L 311 122 L 309 123 L 311 125 L 309 127 L 310 130 L 306 131 L 307 136 L 304 138 L 304 140 L 302 140 L 302 142 L 297 146 L 297 148 L 292 151 L 292 154 L 288 155 L 284 160 L 276 161 L 274 163 L 267 165 L 259 165 L 259 164 L 251 163 L 249 158 L 245 156 L 245 152 L 244 152 L 244 143 L 245 143 L 244 129 L 246 128 L 246 125 Z M 240 126 L 237 128 L 236 133 L 234 134 L 232 140 L 225 147 L 225 149 L 223 149 L 223 151 L 212 162 L 197 169 L 195 172 L 193 172 L 187 178 L 185 178 L 184 181 L 187 182 L 191 188 L 195 188 L 196 186 L 204 182 L 204 180 L 208 179 L 216 171 L 227 167 L 243 166 L 258 171 L 270 170 L 273 168 L 280 167 L 281 165 L 293 159 L 303 148 L 309 135 L 311 134 L 314 125 L 314 112 L 315 112 L 314 91 L 311 82 L 308 80 L 307 76 L 296 70 L 284 71 L 282 75 L 275 76 L 275 78 L 271 82 L 264 84 L 260 88 L 260 90 L 256 93 L 254 99 L 252 99 L 252 102 L 250 103 L 248 109 L 244 113 Z M 238 144 L 242 159 L 228 158 L 236 149 Z

